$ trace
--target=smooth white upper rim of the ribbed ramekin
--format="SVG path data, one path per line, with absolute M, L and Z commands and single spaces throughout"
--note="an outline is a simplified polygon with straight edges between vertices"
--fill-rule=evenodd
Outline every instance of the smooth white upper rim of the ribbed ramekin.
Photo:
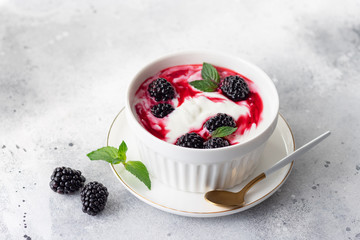
M 264 127 L 264 129 L 259 132 L 258 134 L 246 139 L 244 142 L 235 144 L 235 145 L 231 145 L 231 146 L 227 146 L 227 147 L 223 147 L 223 148 L 212 148 L 212 149 L 197 149 L 197 148 L 186 148 L 186 147 L 181 147 L 181 146 L 177 146 L 175 144 L 166 142 L 164 140 L 161 140 L 157 137 L 155 137 L 154 135 L 152 135 L 151 133 L 149 133 L 141 124 L 140 122 L 137 120 L 136 116 L 134 115 L 134 112 L 132 111 L 132 107 L 130 104 L 130 91 L 133 87 L 133 85 L 137 82 L 136 80 L 139 78 L 139 76 L 147 69 L 151 68 L 152 66 L 156 65 L 159 62 L 162 62 L 166 59 L 170 59 L 170 58 L 174 58 L 174 57 L 180 57 L 182 55 L 213 55 L 213 56 L 218 56 L 218 57 L 223 57 L 223 58 L 229 58 L 229 59 L 234 59 L 237 60 L 239 62 L 243 62 L 244 64 L 247 64 L 248 66 L 252 67 L 254 69 L 254 71 L 260 72 L 262 75 L 264 75 L 269 84 L 271 85 L 271 87 L 273 88 L 273 91 L 275 93 L 274 96 L 275 98 L 272 98 L 273 100 L 273 104 L 274 104 L 274 108 L 276 109 L 276 111 L 272 112 L 272 115 L 269 116 L 271 117 L 271 121 L 269 121 L 268 125 L 266 125 Z M 180 64 L 179 64 L 180 65 Z M 175 65 L 174 65 L 175 66 Z M 161 69 L 160 69 L 161 70 Z M 159 71 L 160 71 L 159 70 Z M 178 51 L 178 52 L 173 52 L 170 54 L 166 54 L 163 55 L 159 58 L 154 59 L 153 61 L 150 61 L 148 64 L 146 64 L 145 66 L 141 67 L 140 70 L 134 75 L 134 77 L 131 79 L 131 81 L 128 83 L 127 89 L 126 89 L 126 100 L 125 100 L 125 112 L 126 112 L 126 116 L 128 118 L 128 121 L 130 122 L 131 125 L 133 125 L 134 127 L 136 127 L 137 129 L 140 130 L 140 133 L 142 133 L 142 135 L 148 139 L 150 139 L 151 141 L 154 141 L 156 144 L 162 145 L 164 147 L 169 148 L 169 150 L 173 150 L 173 151 L 182 151 L 184 153 L 188 152 L 188 153 L 214 153 L 214 152 L 227 152 L 233 149 L 242 149 L 242 148 L 251 148 L 250 146 L 256 144 L 256 147 L 260 146 L 262 143 L 266 142 L 267 139 L 270 137 L 270 135 L 273 132 L 274 126 L 276 125 L 276 121 L 279 115 L 279 95 L 277 92 L 277 89 L 275 87 L 274 82 L 272 81 L 272 79 L 261 69 L 259 68 L 257 65 L 253 64 L 252 62 L 249 62 L 247 60 L 244 60 L 240 57 L 234 56 L 234 55 L 230 55 L 230 54 L 225 54 L 223 52 L 217 52 L 217 51 L 208 51 L 208 50 L 188 50 L 188 51 Z M 273 127 L 272 127 L 273 126 Z M 271 128 L 273 128 L 271 130 Z M 271 130 L 269 132 L 269 130 Z M 265 141 L 261 141 L 260 143 L 257 143 L 259 141 L 259 138 L 263 137 L 263 135 L 265 133 L 267 133 L 267 138 Z M 256 148 L 254 147 L 254 148 Z

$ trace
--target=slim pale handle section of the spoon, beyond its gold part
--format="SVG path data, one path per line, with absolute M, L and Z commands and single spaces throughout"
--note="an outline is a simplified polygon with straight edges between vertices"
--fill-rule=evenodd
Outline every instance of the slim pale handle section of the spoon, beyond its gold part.
M 288 163 L 292 162 L 296 158 L 298 158 L 300 155 L 306 153 L 311 148 L 315 147 L 318 143 L 320 143 L 322 140 L 327 138 L 330 135 L 330 131 L 327 131 L 320 135 L 319 137 L 315 138 L 314 140 L 308 142 L 301 148 L 297 149 L 295 152 L 291 153 L 290 155 L 284 157 L 280 161 L 278 161 L 274 166 L 272 166 L 270 169 L 266 170 L 264 173 L 266 176 L 269 176 L 273 172 L 279 170 L 280 168 L 286 166 Z

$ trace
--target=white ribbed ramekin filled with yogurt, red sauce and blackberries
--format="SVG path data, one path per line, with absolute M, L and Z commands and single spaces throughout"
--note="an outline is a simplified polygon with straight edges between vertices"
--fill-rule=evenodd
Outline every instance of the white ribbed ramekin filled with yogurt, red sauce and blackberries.
M 210 92 L 192 84 L 204 80 L 204 62 L 219 75 Z M 211 52 L 150 63 L 131 81 L 126 97 L 126 117 L 151 176 L 191 192 L 245 180 L 276 127 L 278 110 L 276 88 L 261 69 Z M 231 131 L 217 137 L 221 127 Z

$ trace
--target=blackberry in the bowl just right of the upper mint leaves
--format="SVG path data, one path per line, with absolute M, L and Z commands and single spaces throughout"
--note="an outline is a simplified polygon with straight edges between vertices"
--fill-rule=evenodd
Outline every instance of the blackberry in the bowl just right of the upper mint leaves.
M 228 76 L 221 83 L 223 94 L 234 102 L 245 100 L 249 96 L 249 87 L 240 76 Z

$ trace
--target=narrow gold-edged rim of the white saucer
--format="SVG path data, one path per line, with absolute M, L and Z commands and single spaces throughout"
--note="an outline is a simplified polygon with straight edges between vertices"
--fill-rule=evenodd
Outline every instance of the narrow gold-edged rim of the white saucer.
M 121 113 L 123 113 L 125 107 L 122 107 L 122 109 L 119 111 L 119 113 L 115 116 L 114 120 L 112 121 L 108 134 L 107 134 L 107 139 L 106 139 L 106 145 L 109 146 L 109 138 L 110 138 L 110 134 L 111 134 L 111 130 L 117 120 L 117 118 L 120 116 Z M 286 121 L 286 119 L 283 117 L 283 115 L 279 112 L 278 113 L 279 117 L 285 122 L 287 128 L 289 129 L 289 132 L 291 134 L 291 139 L 292 139 L 292 143 L 293 143 L 293 149 L 291 149 L 292 151 L 295 151 L 296 146 L 295 146 L 295 138 L 294 138 L 294 134 L 293 131 L 289 125 L 289 123 Z M 131 190 L 130 192 L 137 197 L 138 199 L 142 200 L 143 202 L 158 208 L 160 210 L 167 210 L 167 212 L 173 213 L 173 214 L 177 214 L 177 215 L 181 215 L 181 216 L 190 216 L 190 217 L 206 217 L 206 215 L 208 215 L 208 217 L 218 217 L 218 216 L 224 216 L 224 214 L 226 215 L 230 215 L 230 214 L 234 214 L 234 213 L 238 213 L 241 211 L 245 211 L 251 207 L 256 206 L 257 204 L 263 202 L 264 200 L 266 200 L 268 197 L 270 197 L 272 194 L 274 194 L 277 189 L 279 189 L 281 187 L 282 184 L 284 184 L 284 182 L 287 180 L 287 178 L 289 177 L 293 166 L 294 166 L 294 161 L 291 162 L 291 165 L 289 167 L 289 170 L 287 171 L 286 175 L 284 176 L 284 178 L 281 180 L 281 182 L 279 182 L 279 184 L 277 184 L 272 190 L 270 190 L 268 193 L 266 193 L 265 195 L 261 196 L 260 198 L 256 199 L 253 202 L 250 202 L 248 204 L 245 204 L 243 206 L 240 207 L 234 207 L 234 208 L 229 208 L 229 209 L 224 209 L 224 210 L 220 210 L 220 211 L 214 211 L 214 212 L 193 212 L 193 211 L 185 211 L 185 210 L 180 210 L 180 209 L 175 209 L 175 208 L 171 208 L 171 207 L 167 207 L 164 206 L 162 204 L 159 204 L 157 202 L 154 202 L 146 197 L 144 197 L 143 195 L 139 194 L 137 191 L 135 191 L 132 187 L 130 187 L 125 180 L 123 180 L 121 178 L 121 176 L 119 175 L 119 173 L 116 171 L 115 167 L 113 164 L 109 164 L 112 171 L 114 172 L 115 176 L 120 180 L 120 182 L 123 184 L 123 186 L 125 188 L 127 188 L 127 190 Z M 180 191 L 180 190 L 179 190 Z M 240 210 L 241 209 L 241 210 Z M 240 210 L 240 211 L 239 211 Z M 216 214 L 216 215 L 214 215 Z M 217 215 L 220 214 L 220 215 Z M 211 216 L 213 215 L 213 216 Z

